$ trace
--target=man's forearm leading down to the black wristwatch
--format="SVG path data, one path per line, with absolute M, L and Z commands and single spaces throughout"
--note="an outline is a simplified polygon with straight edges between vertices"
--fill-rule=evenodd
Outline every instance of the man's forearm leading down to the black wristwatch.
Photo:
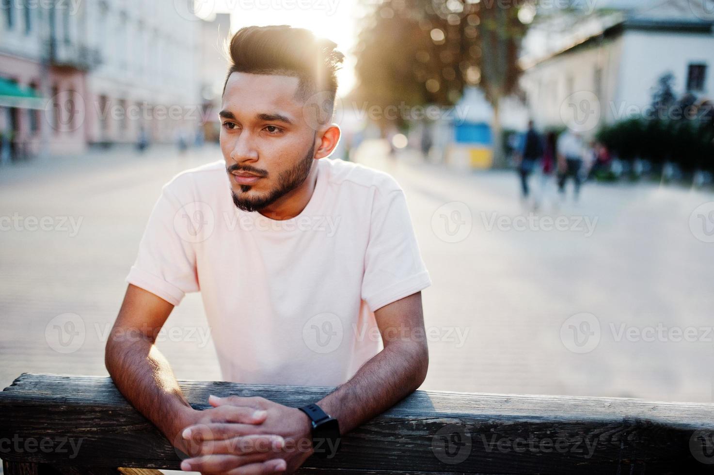
M 427 367 L 426 342 L 391 344 L 317 404 L 338 419 L 346 434 L 415 391 Z

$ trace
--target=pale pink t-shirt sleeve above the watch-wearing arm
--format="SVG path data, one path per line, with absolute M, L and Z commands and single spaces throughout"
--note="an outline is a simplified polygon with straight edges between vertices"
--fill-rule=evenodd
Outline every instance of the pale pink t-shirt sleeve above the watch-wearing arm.
M 414 235 L 406 197 L 395 189 L 377 190 L 365 255 L 362 299 L 371 311 L 431 285 Z

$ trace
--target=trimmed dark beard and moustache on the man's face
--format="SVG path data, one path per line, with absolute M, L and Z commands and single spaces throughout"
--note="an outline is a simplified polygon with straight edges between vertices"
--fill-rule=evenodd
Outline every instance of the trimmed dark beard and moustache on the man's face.
M 305 156 L 303 156 L 303 158 L 298 161 L 298 163 L 293 166 L 293 168 L 281 171 L 281 173 L 278 175 L 278 184 L 266 196 L 248 196 L 246 193 L 250 191 L 251 188 L 253 188 L 253 186 L 251 185 L 240 185 L 241 191 L 243 192 L 241 196 L 236 194 L 236 192 L 233 191 L 233 189 L 231 188 L 233 204 L 236 205 L 236 208 L 241 209 L 243 211 L 247 211 L 248 213 L 251 213 L 253 211 L 260 211 L 266 206 L 270 206 L 282 196 L 285 196 L 287 193 L 293 191 L 293 189 L 296 189 L 298 186 L 303 184 L 303 181 L 305 181 L 305 179 L 310 174 L 310 170 L 312 169 L 314 153 L 315 141 L 313 140 L 312 146 L 310 147 L 310 150 L 308 150 L 308 153 L 305 154 Z M 226 171 L 228 171 L 228 173 L 231 173 L 231 171 L 238 171 L 241 169 L 247 168 L 240 167 L 238 165 L 233 165 L 228 167 Z M 250 169 L 248 171 L 254 170 Z

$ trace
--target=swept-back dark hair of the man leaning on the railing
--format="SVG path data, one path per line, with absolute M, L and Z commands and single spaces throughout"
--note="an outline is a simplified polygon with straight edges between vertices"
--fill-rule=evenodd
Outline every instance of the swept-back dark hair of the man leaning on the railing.
M 223 83 L 223 93 L 234 72 L 277 74 L 299 79 L 296 99 L 306 101 L 321 92 L 327 95 L 323 100 L 327 99 L 334 106 L 336 71 L 344 59 L 336 46 L 333 41 L 317 38 L 303 28 L 245 26 L 236 31 L 228 44 L 231 65 Z

